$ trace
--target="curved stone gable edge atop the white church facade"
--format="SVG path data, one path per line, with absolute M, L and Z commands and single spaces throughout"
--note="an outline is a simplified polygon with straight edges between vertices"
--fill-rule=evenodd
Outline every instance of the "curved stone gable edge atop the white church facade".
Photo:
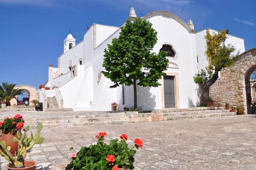
M 177 22 L 179 22 L 179 24 L 181 24 L 188 32 L 197 32 L 195 30 L 192 30 L 185 21 L 183 21 L 181 18 L 179 18 L 177 15 L 169 12 L 169 11 L 154 11 L 152 13 L 146 14 L 145 16 L 141 17 L 141 19 L 149 19 L 152 18 L 153 16 L 163 16 L 165 18 L 172 18 L 174 20 L 176 20 Z

